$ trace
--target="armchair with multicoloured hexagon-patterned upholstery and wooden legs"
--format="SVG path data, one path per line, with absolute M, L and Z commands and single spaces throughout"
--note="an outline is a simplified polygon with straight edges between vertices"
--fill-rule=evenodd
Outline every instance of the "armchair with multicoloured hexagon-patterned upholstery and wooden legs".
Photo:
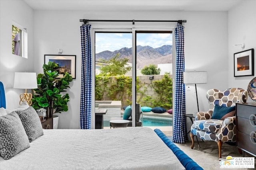
M 231 117 L 223 119 L 212 119 L 215 105 L 232 107 L 236 103 L 244 103 L 248 93 L 242 88 L 230 88 L 224 92 L 217 89 L 210 89 L 206 93 L 206 98 L 210 104 L 209 111 L 198 112 L 196 120 L 191 126 L 190 138 L 192 140 L 191 149 L 194 148 L 194 135 L 206 141 L 216 141 L 218 144 L 219 158 L 221 158 L 221 147 L 223 142 L 236 141 L 236 116 L 235 111 Z M 232 114 L 232 113 L 231 113 Z M 228 114 L 227 114 L 228 115 Z

